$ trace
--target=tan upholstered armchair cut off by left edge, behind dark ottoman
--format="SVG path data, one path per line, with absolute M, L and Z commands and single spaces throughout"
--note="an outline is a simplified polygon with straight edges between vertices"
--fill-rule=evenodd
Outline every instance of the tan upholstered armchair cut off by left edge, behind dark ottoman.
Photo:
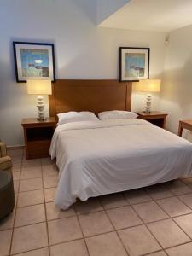
M 6 170 L 10 173 L 12 169 L 11 158 L 7 155 L 7 148 L 5 143 L 0 141 L 0 170 Z

